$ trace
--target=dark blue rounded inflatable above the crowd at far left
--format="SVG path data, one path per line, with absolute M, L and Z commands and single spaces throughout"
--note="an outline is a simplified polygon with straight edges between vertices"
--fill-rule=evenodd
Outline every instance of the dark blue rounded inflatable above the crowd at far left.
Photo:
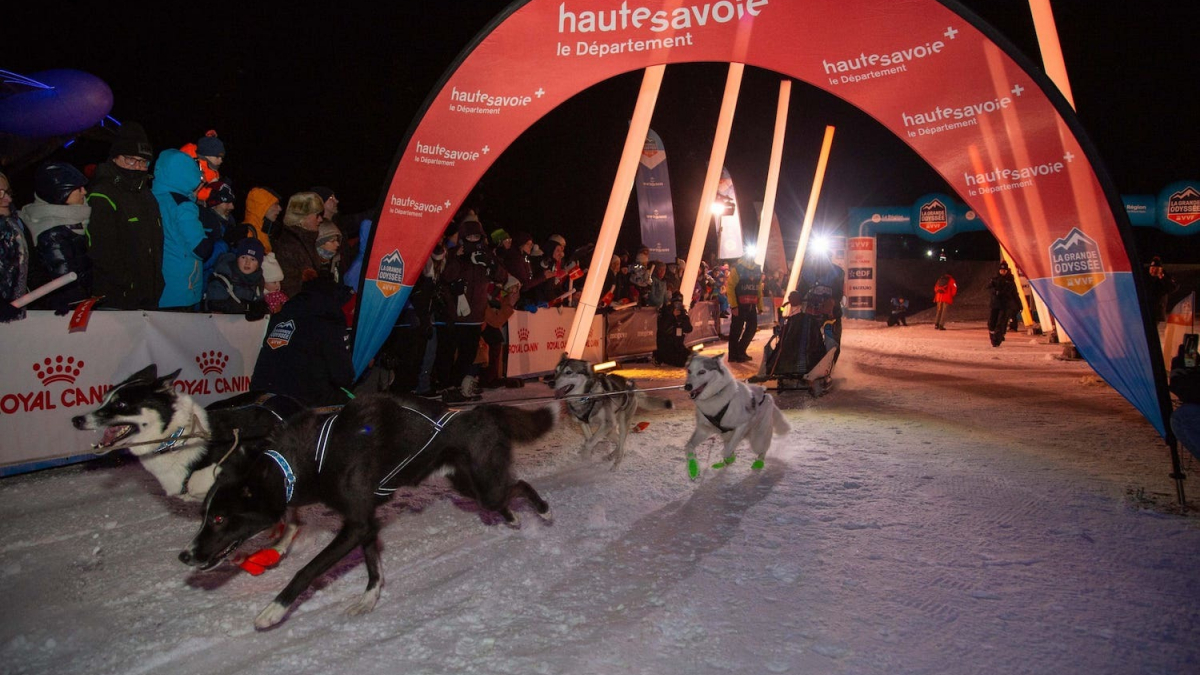
M 30 77 L 0 71 L 0 132 L 29 138 L 68 136 L 96 126 L 113 109 L 113 90 L 94 74 L 54 70 Z

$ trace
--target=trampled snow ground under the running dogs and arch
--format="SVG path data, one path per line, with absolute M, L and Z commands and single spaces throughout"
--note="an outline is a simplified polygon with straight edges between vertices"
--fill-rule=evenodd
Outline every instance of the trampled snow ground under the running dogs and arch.
M 518 452 L 553 525 L 524 506 L 522 530 L 487 525 L 439 483 L 401 495 L 359 617 L 354 554 L 253 628 L 331 539 L 322 508 L 277 569 L 193 573 L 175 556 L 198 509 L 137 464 L 6 478 L 2 671 L 1200 673 L 1200 519 L 1172 514 L 1165 446 L 1086 363 L 1040 338 L 994 350 L 978 322 L 848 322 L 845 339 L 833 393 L 778 395 L 793 429 L 762 472 L 689 482 L 674 390 L 616 472 L 565 420 Z M 517 393 L 548 390 L 490 398 Z

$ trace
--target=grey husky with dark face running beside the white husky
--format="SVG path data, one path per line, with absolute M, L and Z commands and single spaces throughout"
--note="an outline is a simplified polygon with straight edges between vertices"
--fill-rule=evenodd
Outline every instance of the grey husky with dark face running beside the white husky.
M 589 362 L 571 359 L 566 354 L 554 368 L 556 398 L 571 396 L 566 411 L 583 430 L 583 452 L 590 453 L 600 441 L 612 437 L 614 448 L 605 456 L 612 468 L 625 458 L 625 437 L 634 424 L 638 407 L 668 410 L 668 399 L 647 396 L 637 392 L 632 380 L 620 375 L 595 372 Z

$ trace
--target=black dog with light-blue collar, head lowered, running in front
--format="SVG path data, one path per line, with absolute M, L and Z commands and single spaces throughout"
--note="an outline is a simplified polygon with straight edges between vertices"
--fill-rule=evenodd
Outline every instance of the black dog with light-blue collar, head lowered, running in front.
M 415 396 L 359 396 L 336 416 L 310 412 L 282 428 L 264 454 L 222 470 L 204 503 L 199 533 L 179 558 L 209 569 L 242 542 L 280 520 L 289 506 L 322 503 L 342 527 L 254 619 L 258 628 L 281 622 L 293 602 L 356 546 L 367 566 L 366 592 L 348 609 L 374 609 L 383 585 L 376 508 L 404 485 L 436 472 L 484 508 L 518 527 L 509 509 L 523 496 L 550 520 L 550 506 L 512 476 L 512 443 L 539 438 L 554 425 L 550 408 L 523 411 L 485 405 L 451 410 Z

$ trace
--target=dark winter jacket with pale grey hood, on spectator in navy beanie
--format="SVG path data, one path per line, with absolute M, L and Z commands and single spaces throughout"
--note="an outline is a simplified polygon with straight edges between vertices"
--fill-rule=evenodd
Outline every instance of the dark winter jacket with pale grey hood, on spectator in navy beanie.
M 90 298 L 92 268 L 88 257 L 88 221 L 91 207 L 48 204 L 35 197 L 32 204 L 20 209 L 20 217 L 34 238 L 47 281 L 71 271 L 78 275 L 76 281 L 43 297 L 35 306 L 62 310 L 70 303 Z

